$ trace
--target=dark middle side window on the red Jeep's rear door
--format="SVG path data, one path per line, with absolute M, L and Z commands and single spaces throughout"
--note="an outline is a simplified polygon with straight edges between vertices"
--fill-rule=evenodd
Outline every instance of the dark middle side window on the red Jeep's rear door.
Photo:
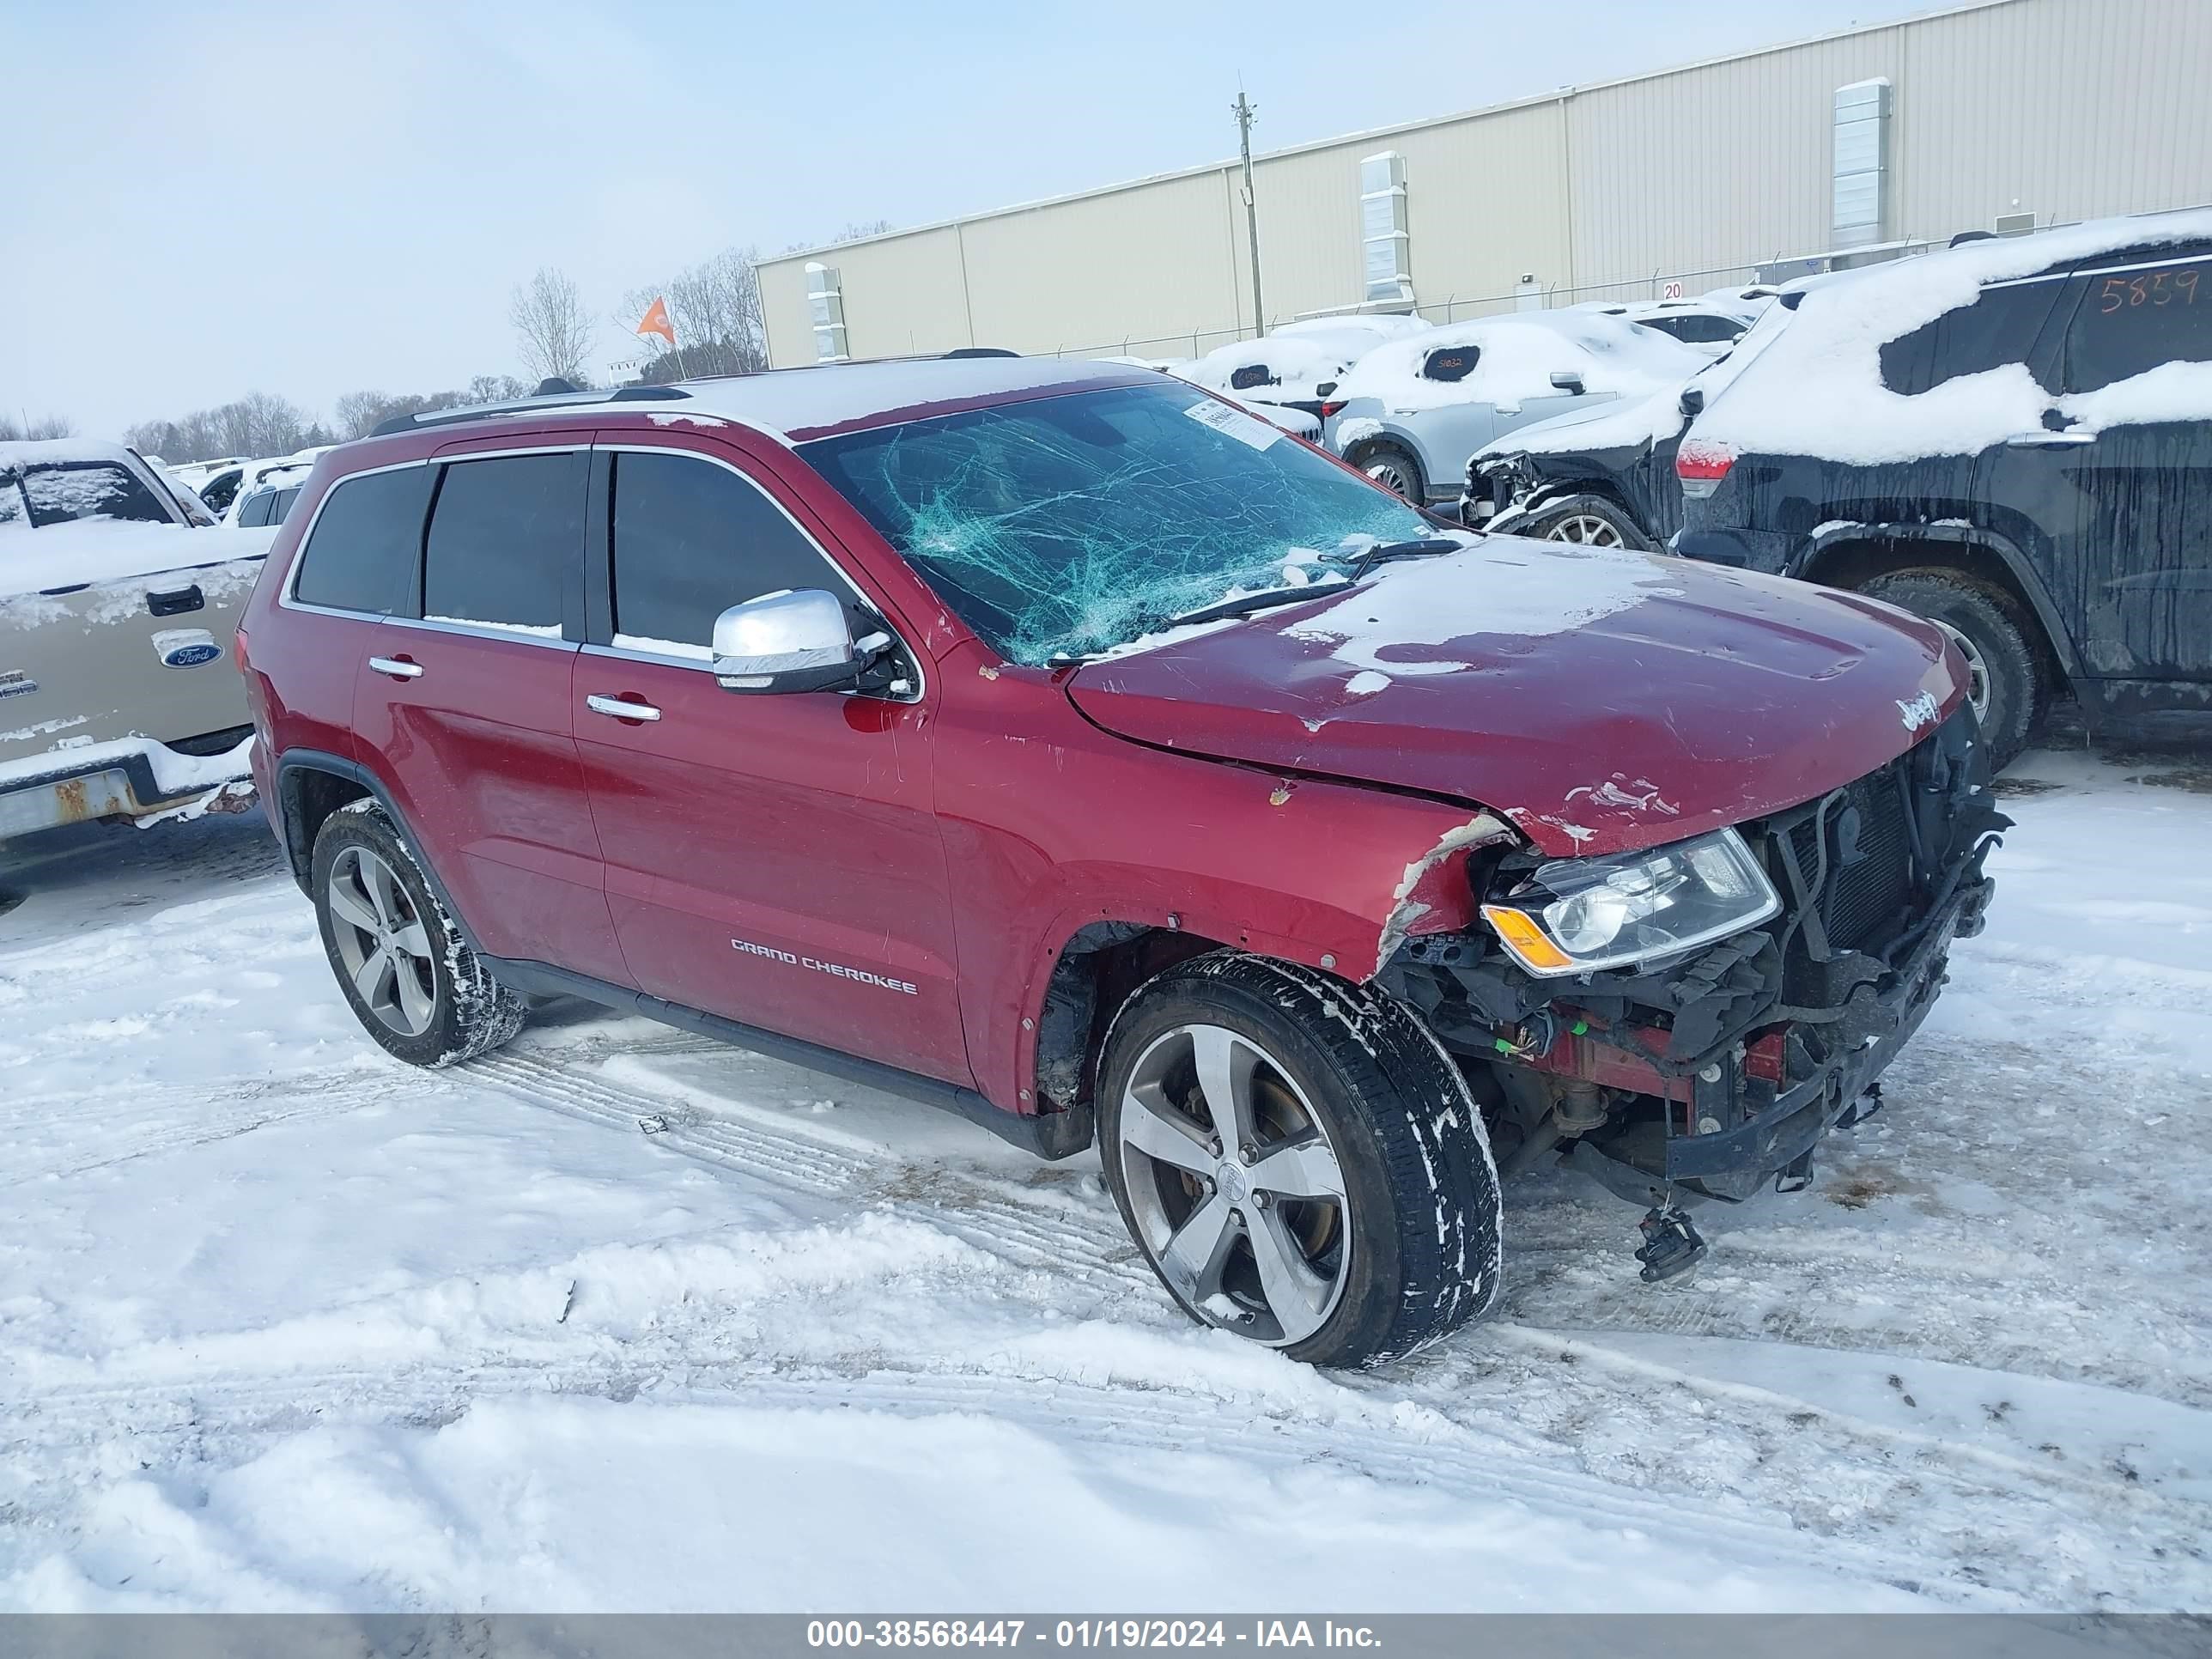
M 422 615 L 560 630 L 584 560 L 584 451 L 445 469 L 422 549 Z

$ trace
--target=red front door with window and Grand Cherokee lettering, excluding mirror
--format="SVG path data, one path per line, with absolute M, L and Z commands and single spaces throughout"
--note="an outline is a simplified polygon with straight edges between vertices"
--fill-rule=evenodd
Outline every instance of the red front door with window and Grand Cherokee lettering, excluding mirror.
M 611 440 L 606 624 L 571 719 L 637 984 L 971 1082 L 920 677 L 898 699 L 723 690 L 708 644 L 732 604 L 827 588 L 856 633 L 885 624 L 748 458 Z

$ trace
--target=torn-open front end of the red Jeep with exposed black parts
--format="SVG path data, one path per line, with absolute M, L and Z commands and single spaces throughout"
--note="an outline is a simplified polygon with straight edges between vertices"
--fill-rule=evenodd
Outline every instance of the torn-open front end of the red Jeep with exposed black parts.
M 1537 980 L 1486 933 L 1431 933 L 1378 980 L 1486 1062 L 1509 1164 L 1515 1133 L 1535 1152 L 1564 1144 L 1641 1203 L 1803 1179 L 1920 1029 L 1951 940 L 1982 929 L 1982 860 L 2008 821 L 1980 770 L 1960 710 L 1880 772 L 1739 825 L 1783 909 L 1670 962 Z

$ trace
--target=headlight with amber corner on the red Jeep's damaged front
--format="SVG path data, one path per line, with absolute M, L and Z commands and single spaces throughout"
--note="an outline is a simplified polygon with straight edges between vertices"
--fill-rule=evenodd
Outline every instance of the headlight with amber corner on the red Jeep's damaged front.
M 1781 909 L 1743 836 L 1714 830 L 1621 858 L 1559 858 L 1482 918 L 1531 973 L 1590 973 L 1674 956 Z

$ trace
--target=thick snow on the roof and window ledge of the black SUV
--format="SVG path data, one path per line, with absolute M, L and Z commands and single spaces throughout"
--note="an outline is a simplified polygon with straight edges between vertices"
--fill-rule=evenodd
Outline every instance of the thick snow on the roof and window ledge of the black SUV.
M 2099 219 L 1829 276 L 1805 290 L 1792 327 L 1772 334 L 1736 367 L 1725 398 L 1708 392 L 1705 414 L 1688 442 L 1874 467 L 1971 456 L 2015 431 L 2035 431 L 2046 409 L 2070 416 L 2079 431 L 2212 418 L 2212 365 L 2203 363 L 2166 363 L 2084 396 L 2046 392 L 2024 363 L 1962 374 L 1916 396 L 1882 385 L 1882 345 L 1971 305 L 1984 283 L 2126 248 L 2205 239 L 2212 239 L 2212 210 Z M 1818 396 L 1807 396 L 1809 387 Z

